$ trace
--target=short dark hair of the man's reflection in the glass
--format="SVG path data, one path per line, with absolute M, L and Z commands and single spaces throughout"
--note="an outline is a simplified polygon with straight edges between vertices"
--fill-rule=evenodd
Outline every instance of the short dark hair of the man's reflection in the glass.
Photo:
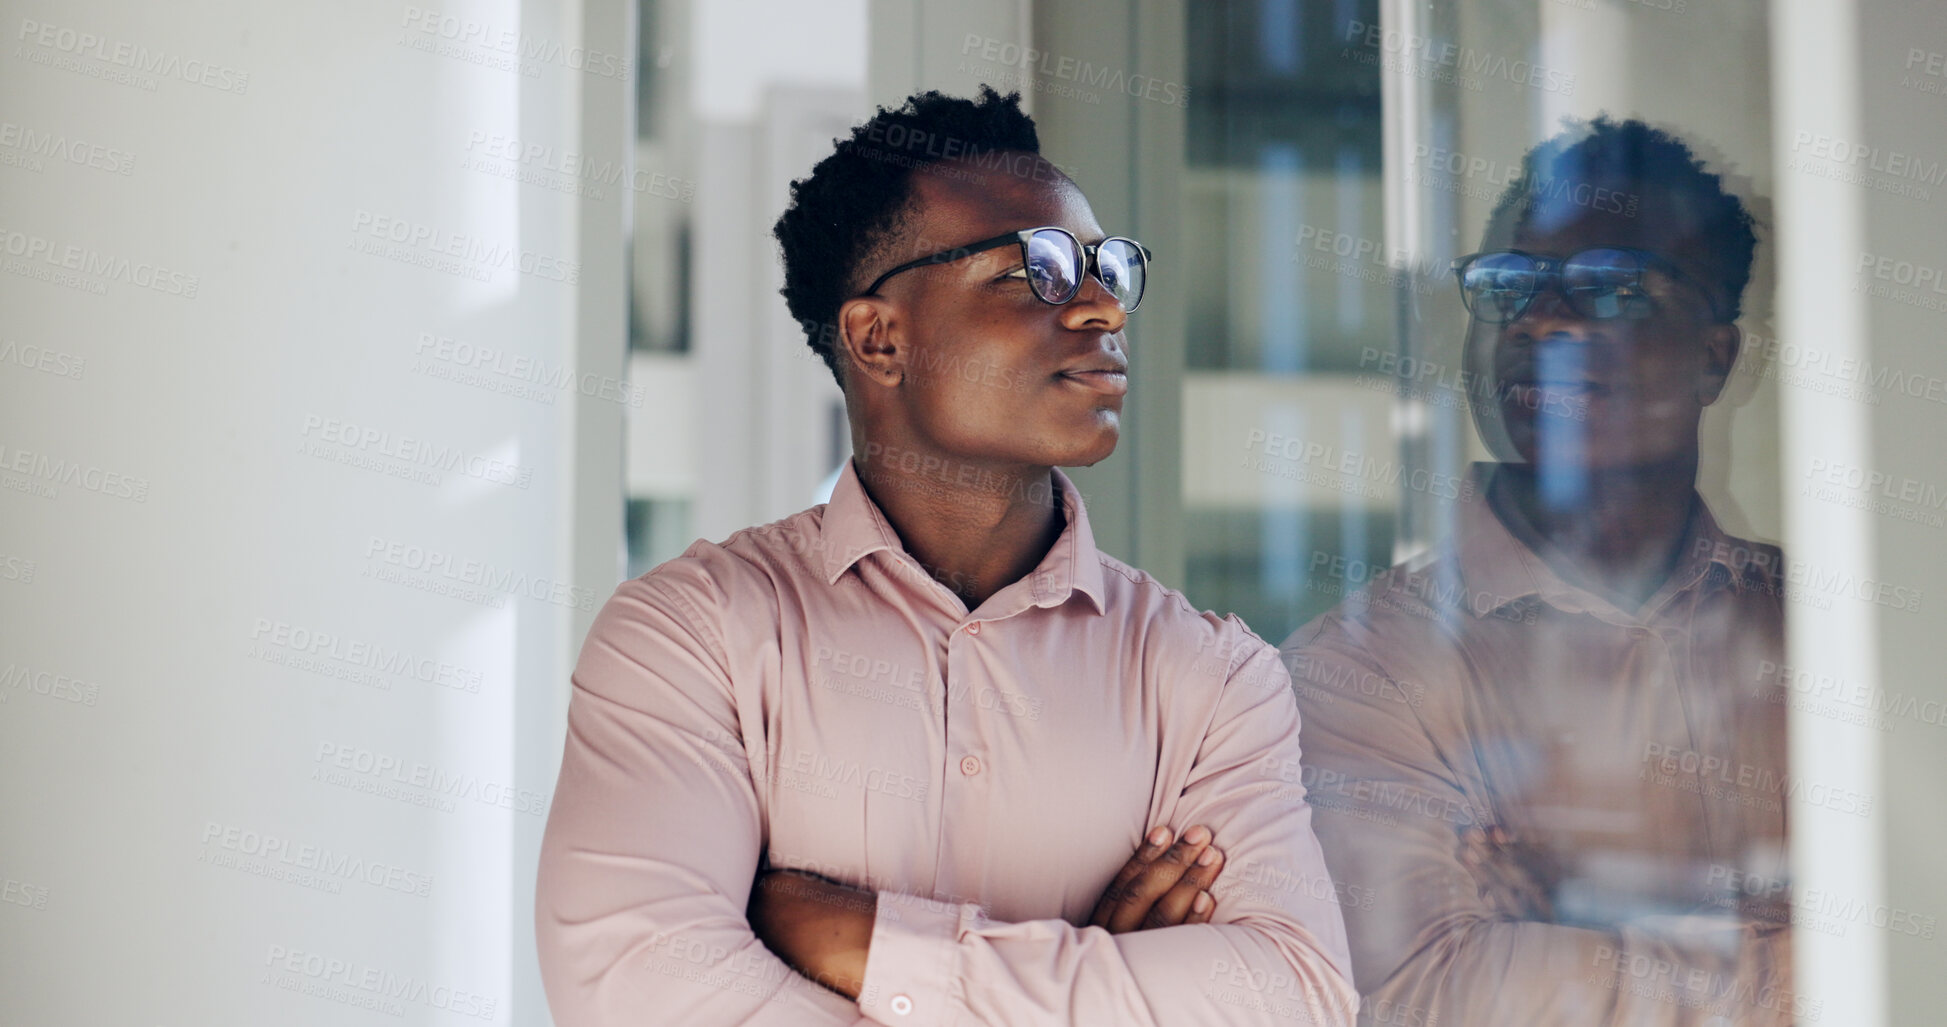
M 1519 228 L 1532 224 L 1536 214 L 1558 212 L 1560 203 L 1585 199 L 1587 207 L 1630 216 L 1639 203 L 1669 212 L 1692 238 L 1704 240 L 1704 269 L 1723 290 L 1711 296 L 1711 306 L 1725 322 L 1735 322 L 1758 236 L 1756 220 L 1725 191 L 1723 175 L 1706 171 L 1676 136 L 1637 119 L 1598 115 L 1595 121 L 1565 119 L 1565 125 L 1567 131 L 1528 150 L 1521 175 L 1501 193 L 1488 222 Z M 1608 195 L 1585 193 L 1581 185 L 1608 189 Z M 1637 189 L 1649 195 L 1639 197 Z

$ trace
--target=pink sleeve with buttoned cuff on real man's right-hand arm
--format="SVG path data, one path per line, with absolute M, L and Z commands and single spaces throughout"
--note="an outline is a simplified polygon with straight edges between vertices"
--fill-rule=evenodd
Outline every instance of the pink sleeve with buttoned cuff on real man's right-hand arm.
M 1225 850 L 1209 924 L 1112 935 L 989 922 L 880 893 L 859 1009 L 886 1025 L 1351 1023 L 1345 928 L 1299 783 L 1299 709 L 1277 651 L 1232 661 L 1170 826 Z

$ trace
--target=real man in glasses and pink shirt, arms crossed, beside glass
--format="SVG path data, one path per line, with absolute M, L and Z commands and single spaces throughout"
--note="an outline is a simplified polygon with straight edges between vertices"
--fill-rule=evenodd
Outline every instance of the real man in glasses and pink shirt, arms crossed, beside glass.
M 777 238 L 853 460 L 596 620 L 541 852 L 559 1023 L 1349 1019 L 1277 651 L 1096 552 L 1055 470 L 1116 448 L 1147 251 L 991 90 L 880 111 Z

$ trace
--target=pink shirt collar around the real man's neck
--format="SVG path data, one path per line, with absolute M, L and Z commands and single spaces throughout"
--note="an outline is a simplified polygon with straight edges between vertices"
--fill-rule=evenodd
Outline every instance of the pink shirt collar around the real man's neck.
M 1053 479 L 1065 514 L 1061 536 L 1028 577 L 1007 585 L 981 604 L 983 610 L 995 608 L 995 616 L 1007 616 L 1024 606 L 1059 606 L 1077 590 L 1094 602 L 1096 614 L 1108 610 L 1102 555 L 1096 552 L 1094 532 L 1088 528 L 1083 493 L 1069 475 L 1061 474 L 1061 468 L 1053 470 Z M 816 546 L 824 552 L 826 585 L 835 585 L 853 563 L 880 550 L 911 559 L 884 511 L 866 495 L 851 460 L 845 462 L 837 485 L 831 487 L 831 501 L 826 503 L 818 532 Z

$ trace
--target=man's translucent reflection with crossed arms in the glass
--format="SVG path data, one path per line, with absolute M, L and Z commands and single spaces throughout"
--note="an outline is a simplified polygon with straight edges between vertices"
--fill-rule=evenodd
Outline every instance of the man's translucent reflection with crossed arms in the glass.
M 1696 493 L 1750 216 L 1684 144 L 1598 119 L 1528 154 L 1484 249 L 1456 273 L 1509 460 L 1451 540 L 1285 643 L 1361 1017 L 1803 1017 L 1780 553 Z

